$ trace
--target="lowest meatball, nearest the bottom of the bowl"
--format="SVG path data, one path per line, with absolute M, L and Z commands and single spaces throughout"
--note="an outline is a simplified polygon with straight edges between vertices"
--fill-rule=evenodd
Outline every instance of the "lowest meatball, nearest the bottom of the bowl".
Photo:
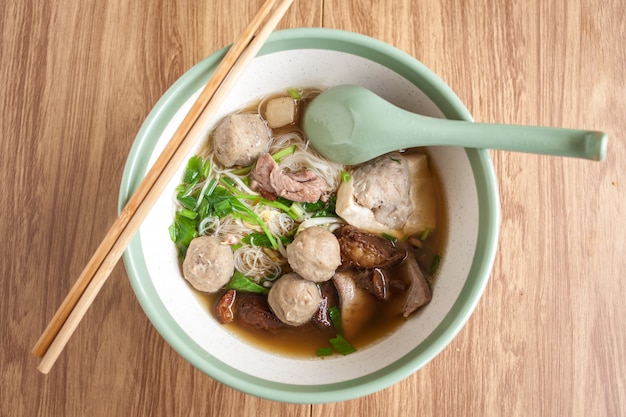
M 280 321 L 300 326 L 313 318 L 322 296 L 317 284 L 292 272 L 283 275 L 272 285 L 267 302 Z

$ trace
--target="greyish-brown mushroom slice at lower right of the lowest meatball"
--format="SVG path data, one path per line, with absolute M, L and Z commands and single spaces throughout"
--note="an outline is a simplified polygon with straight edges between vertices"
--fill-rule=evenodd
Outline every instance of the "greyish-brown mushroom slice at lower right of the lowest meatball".
M 339 294 L 341 327 L 346 338 L 358 334 L 376 313 L 376 299 L 367 290 L 357 285 L 356 270 L 337 271 L 333 283 Z

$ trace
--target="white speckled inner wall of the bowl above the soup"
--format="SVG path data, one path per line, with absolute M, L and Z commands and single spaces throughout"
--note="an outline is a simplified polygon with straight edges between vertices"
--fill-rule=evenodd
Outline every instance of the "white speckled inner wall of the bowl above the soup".
M 362 85 L 407 110 L 443 117 L 415 85 L 381 64 L 339 51 L 295 49 L 256 58 L 215 120 L 257 98 L 290 87 L 339 84 Z M 154 147 L 150 166 L 197 94 L 199 91 L 167 124 Z M 210 128 L 207 127 L 207 132 Z M 450 147 L 432 148 L 430 153 L 443 183 L 449 220 L 446 250 L 433 288 L 433 299 L 396 332 L 368 348 L 345 357 L 291 358 L 242 342 L 227 326 L 218 324 L 184 282 L 167 231 L 173 219 L 174 189 L 182 178 L 182 167 L 139 231 L 148 271 L 148 276 L 141 279 L 152 281 L 174 321 L 171 325 L 182 328 L 207 356 L 245 374 L 278 383 L 318 385 L 340 383 L 376 372 L 403 358 L 440 325 L 461 293 L 476 250 L 479 203 L 467 154 L 463 148 Z

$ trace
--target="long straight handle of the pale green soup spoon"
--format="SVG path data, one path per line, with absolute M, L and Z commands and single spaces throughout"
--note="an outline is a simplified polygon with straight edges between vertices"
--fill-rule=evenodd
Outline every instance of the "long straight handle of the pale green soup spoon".
M 601 161 L 606 156 L 606 133 L 553 127 L 470 123 L 420 117 L 415 132 L 436 138 L 433 145 L 469 146 Z

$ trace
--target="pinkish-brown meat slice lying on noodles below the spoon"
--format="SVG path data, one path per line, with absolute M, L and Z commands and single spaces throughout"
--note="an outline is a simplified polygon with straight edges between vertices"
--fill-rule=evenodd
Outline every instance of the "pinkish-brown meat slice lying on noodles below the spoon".
M 300 203 L 326 201 L 332 191 L 313 171 L 283 172 L 269 153 L 262 155 L 252 170 L 253 188 L 266 196 L 278 195 Z

